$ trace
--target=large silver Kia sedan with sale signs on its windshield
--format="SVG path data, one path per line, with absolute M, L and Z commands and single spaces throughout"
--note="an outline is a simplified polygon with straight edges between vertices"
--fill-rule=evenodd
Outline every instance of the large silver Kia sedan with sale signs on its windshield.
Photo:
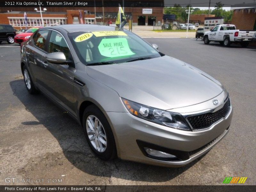
M 228 92 L 203 71 L 108 26 L 42 28 L 21 46 L 29 93 L 68 111 L 101 159 L 182 166 L 228 132 Z

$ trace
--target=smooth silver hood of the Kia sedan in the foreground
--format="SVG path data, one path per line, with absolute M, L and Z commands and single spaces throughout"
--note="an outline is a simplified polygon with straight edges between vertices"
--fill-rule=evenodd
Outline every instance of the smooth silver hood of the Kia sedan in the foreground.
M 169 56 L 87 66 L 86 71 L 120 97 L 164 110 L 210 100 L 224 89 L 213 77 Z

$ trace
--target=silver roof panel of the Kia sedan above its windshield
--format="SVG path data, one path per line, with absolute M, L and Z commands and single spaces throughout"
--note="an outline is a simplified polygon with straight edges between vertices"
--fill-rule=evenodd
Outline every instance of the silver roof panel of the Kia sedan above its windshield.
M 105 26 L 105 25 L 92 25 L 92 24 L 69 24 L 69 25 L 57 25 L 49 27 L 52 29 L 65 29 L 67 32 L 76 31 L 115 31 L 116 27 Z

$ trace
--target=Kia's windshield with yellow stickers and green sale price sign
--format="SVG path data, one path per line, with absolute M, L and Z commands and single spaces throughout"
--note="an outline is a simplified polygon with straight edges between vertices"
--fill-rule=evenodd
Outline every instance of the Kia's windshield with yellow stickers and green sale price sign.
M 129 31 L 68 33 L 71 43 L 85 65 L 104 65 L 161 57 L 140 37 Z

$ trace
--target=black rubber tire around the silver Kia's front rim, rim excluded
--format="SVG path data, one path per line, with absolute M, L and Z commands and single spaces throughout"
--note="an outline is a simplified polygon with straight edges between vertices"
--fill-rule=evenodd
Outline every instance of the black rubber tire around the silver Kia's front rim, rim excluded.
M 99 120 L 102 126 L 104 127 L 105 134 L 107 137 L 107 148 L 104 152 L 99 152 L 97 151 L 93 146 L 91 141 L 89 140 L 87 131 L 86 131 L 86 119 L 88 116 L 93 115 L 96 116 Z M 107 118 L 104 116 L 104 114 L 101 112 L 101 110 L 95 106 L 95 105 L 90 105 L 84 110 L 84 115 L 83 115 L 83 131 L 85 135 L 85 139 L 90 146 L 91 150 L 100 158 L 103 160 L 111 160 L 116 157 L 116 143 L 114 139 L 113 132 L 111 130 L 111 127 L 108 123 Z

